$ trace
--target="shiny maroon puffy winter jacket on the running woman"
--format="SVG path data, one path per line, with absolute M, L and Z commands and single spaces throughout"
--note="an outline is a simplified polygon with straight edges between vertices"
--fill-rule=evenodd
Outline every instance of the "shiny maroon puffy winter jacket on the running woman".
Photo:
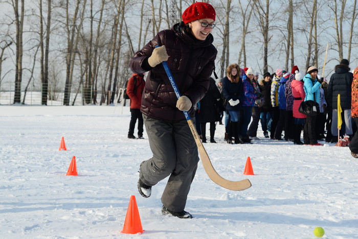
M 155 46 L 165 45 L 169 55 L 167 63 L 178 90 L 194 105 L 208 91 L 209 77 L 215 68 L 217 50 L 212 42 L 211 34 L 204 41 L 195 39 L 191 33 L 188 33 L 187 26 L 181 22 L 174 25 L 171 30 L 159 32 L 131 58 L 129 66 L 135 73 L 144 73 L 145 62 Z M 177 98 L 163 65 L 158 64 L 149 71 L 146 78 L 141 112 L 151 118 L 178 122 L 185 117 L 176 108 L 176 101 Z M 189 113 L 193 116 L 193 107 Z

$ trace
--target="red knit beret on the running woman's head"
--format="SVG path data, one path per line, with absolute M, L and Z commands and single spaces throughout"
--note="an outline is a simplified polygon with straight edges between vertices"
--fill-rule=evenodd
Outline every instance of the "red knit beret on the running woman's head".
M 201 3 L 196 2 L 190 5 L 185 11 L 183 12 L 182 18 L 184 24 L 190 23 L 191 21 L 210 18 L 215 20 L 215 9 L 208 3 Z

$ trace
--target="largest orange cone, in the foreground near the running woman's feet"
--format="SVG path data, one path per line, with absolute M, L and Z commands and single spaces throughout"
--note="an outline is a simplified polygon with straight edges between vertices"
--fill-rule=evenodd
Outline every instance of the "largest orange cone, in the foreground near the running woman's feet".
M 122 233 L 126 234 L 142 234 L 143 232 L 141 218 L 137 207 L 136 197 L 130 196 L 130 201 L 127 209 L 127 215 L 125 216 L 124 226 Z

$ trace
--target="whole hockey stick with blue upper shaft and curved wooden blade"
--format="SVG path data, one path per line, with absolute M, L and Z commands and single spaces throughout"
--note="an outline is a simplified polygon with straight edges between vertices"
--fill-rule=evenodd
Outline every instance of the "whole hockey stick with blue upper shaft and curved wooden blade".
M 157 46 L 158 47 L 158 46 Z M 181 97 L 180 92 L 177 89 L 176 83 L 174 81 L 173 75 L 170 72 L 170 69 L 168 67 L 168 63 L 166 61 L 163 61 L 163 67 L 165 69 L 165 72 L 167 73 L 167 76 L 169 78 L 169 81 L 171 83 L 171 86 L 173 86 L 173 90 L 175 92 L 176 98 Z M 221 187 L 225 187 L 229 190 L 234 190 L 234 191 L 241 191 L 241 190 L 245 190 L 248 189 L 249 187 L 251 187 L 251 182 L 248 179 L 244 179 L 241 181 L 229 181 L 226 180 L 224 178 L 222 178 L 214 169 L 213 165 L 211 164 L 209 155 L 207 153 L 207 151 L 205 150 L 202 141 L 200 140 L 197 132 L 196 132 L 196 128 L 193 124 L 193 121 L 191 120 L 191 117 L 189 115 L 189 113 L 187 111 L 183 111 L 185 118 L 187 119 L 189 128 L 191 133 L 193 134 L 193 137 L 195 139 L 195 143 L 196 146 L 199 150 L 199 155 L 200 155 L 200 159 L 202 159 L 202 163 L 203 163 L 203 167 L 207 173 L 207 175 L 209 176 L 209 178 L 216 184 L 218 184 Z

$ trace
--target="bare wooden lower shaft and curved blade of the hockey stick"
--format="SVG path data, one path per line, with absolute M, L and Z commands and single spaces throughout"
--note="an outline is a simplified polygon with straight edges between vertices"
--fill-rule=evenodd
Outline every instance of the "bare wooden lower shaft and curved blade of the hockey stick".
M 193 124 L 193 121 L 190 119 L 190 120 L 187 120 L 187 122 L 189 124 L 190 131 L 193 134 L 193 137 L 195 139 L 196 146 L 199 150 L 199 155 L 200 155 L 200 159 L 202 160 L 203 167 L 204 167 L 207 175 L 209 176 L 209 178 L 217 185 L 219 185 L 221 187 L 225 187 L 226 189 L 233 190 L 233 191 L 241 191 L 241 190 L 245 190 L 245 189 L 248 189 L 249 187 L 251 187 L 251 182 L 248 179 L 244 179 L 241 181 L 229 181 L 229 180 L 222 178 L 215 171 L 215 168 L 213 167 L 213 165 L 210 161 L 209 155 L 208 155 L 207 151 L 205 150 L 202 141 L 200 140 L 199 136 L 197 135 L 196 128 Z

